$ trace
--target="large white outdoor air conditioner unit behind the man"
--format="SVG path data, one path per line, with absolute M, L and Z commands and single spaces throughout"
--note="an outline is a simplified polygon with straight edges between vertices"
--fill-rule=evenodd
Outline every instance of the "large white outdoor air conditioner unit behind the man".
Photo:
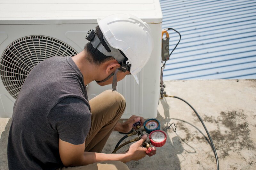
M 11 117 L 13 104 L 28 73 L 39 62 L 54 56 L 75 55 L 88 42 L 85 35 L 97 18 L 130 13 L 152 29 L 154 50 L 140 71 L 118 82 L 117 91 L 127 105 L 122 118 L 154 118 L 159 100 L 162 11 L 158 0 L 1 0 L 0 2 L 0 117 Z M 136 42 L 135 42 L 136 43 Z M 141 49 L 147 50 L 147 49 Z M 88 85 L 89 99 L 111 85 Z M 40 97 L 40 96 L 38 96 Z

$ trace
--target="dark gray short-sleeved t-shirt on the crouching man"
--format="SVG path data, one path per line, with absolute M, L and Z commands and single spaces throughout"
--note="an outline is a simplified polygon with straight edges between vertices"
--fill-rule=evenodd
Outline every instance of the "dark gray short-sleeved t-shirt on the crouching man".
M 14 104 L 9 169 L 62 167 L 59 138 L 83 144 L 90 128 L 90 105 L 80 70 L 71 56 L 46 59 L 28 74 Z

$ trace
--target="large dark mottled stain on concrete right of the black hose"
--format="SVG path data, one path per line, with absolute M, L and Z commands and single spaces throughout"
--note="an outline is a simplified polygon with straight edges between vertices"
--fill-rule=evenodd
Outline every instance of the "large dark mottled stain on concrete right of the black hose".
M 252 139 L 250 138 L 250 129 L 246 121 L 246 115 L 242 111 L 221 112 L 217 119 L 214 117 L 204 117 L 207 122 L 217 123 L 218 129 L 210 131 L 216 150 L 220 158 L 229 155 L 229 151 L 239 153 L 243 149 L 255 150 Z M 222 126 L 228 130 L 222 131 Z M 204 137 L 196 137 L 202 142 L 206 142 Z

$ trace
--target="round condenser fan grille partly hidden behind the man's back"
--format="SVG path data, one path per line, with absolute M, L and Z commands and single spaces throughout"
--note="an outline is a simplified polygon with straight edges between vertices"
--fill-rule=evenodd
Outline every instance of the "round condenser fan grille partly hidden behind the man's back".
M 74 56 L 68 44 L 52 37 L 33 35 L 12 42 L 1 56 L 0 73 L 4 87 L 17 98 L 28 73 L 51 56 Z

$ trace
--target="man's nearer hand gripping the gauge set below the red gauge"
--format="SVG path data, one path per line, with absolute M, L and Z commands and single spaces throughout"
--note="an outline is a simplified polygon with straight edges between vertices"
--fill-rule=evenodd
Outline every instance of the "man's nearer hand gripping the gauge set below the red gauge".
M 142 144 L 146 139 L 147 135 L 144 135 L 138 142 L 131 144 L 128 152 L 126 153 L 129 155 L 130 160 L 139 160 L 147 155 L 147 148 L 142 147 Z

